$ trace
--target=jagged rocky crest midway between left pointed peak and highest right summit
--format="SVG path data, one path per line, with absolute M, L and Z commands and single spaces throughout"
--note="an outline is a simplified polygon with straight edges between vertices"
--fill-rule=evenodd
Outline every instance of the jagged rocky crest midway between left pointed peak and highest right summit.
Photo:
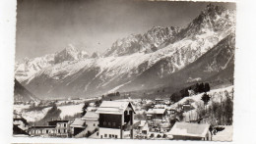
M 107 49 L 104 56 L 125 56 L 137 52 L 155 52 L 170 42 L 173 42 L 178 32 L 178 27 L 154 26 L 144 34 L 132 34 L 128 37 L 118 39 L 110 49 Z

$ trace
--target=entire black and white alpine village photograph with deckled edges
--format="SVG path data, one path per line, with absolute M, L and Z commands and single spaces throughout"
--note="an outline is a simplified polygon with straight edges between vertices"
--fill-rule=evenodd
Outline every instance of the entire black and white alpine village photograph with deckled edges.
M 16 12 L 13 137 L 232 141 L 235 2 L 17 0 Z

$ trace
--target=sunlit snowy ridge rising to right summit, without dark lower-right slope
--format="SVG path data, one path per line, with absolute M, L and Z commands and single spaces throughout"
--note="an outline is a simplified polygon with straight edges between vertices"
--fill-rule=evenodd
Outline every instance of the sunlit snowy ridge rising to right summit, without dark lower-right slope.
M 144 34 L 115 41 L 103 57 L 62 61 L 27 76 L 22 84 L 40 97 L 92 97 L 112 90 L 129 91 L 132 88 L 127 85 L 138 85 L 141 81 L 134 81 L 142 76 L 164 86 L 168 83 L 160 79 L 171 78 L 234 32 L 235 12 L 209 5 L 187 27 L 155 26 Z M 147 74 L 150 70 L 156 81 Z M 146 86 L 147 82 L 141 84 Z

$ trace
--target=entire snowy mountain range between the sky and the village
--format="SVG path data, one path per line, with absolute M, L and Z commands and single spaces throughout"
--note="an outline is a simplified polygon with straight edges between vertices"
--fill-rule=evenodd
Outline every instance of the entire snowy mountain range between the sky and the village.
M 39 99 L 177 89 L 206 81 L 232 85 L 234 50 L 235 11 L 210 4 L 184 27 L 154 26 L 116 40 L 103 54 L 90 56 L 69 45 L 25 58 L 16 63 L 15 78 Z

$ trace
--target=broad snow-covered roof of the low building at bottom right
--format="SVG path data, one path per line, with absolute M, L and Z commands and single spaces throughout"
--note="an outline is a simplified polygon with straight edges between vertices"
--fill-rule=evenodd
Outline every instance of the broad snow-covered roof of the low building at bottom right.
M 189 122 L 175 122 L 171 130 L 167 133 L 170 135 L 191 136 L 191 137 L 205 137 L 210 124 L 204 123 L 189 123 Z

